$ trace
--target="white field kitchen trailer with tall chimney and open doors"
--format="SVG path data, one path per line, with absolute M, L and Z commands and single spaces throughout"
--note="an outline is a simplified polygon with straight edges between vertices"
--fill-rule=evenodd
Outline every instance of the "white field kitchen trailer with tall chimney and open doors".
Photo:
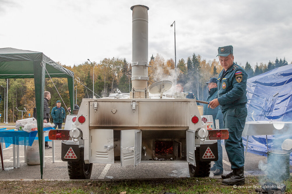
M 132 29 L 132 90 L 105 98 L 82 99 L 70 130 L 51 130 L 51 140 L 62 140 L 62 161 L 70 179 L 90 179 L 93 163 L 121 166 L 149 162 L 188 162 L 190 177 L 209 176 L 218 159 L 217 140 L 228 130 L 207 129 L 195 99 L 175 92 L 164 97 L 171 81 L 147 86 L 148 10 L 135 5 Z M 158 97 L 149 97 L 149 92 Z M 69 140 L 72 139 L 72 140 Z

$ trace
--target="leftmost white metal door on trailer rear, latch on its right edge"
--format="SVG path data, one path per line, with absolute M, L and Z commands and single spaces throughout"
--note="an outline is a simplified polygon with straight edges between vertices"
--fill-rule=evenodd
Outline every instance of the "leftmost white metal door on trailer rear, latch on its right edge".
M 91 163 L 114 163 L 114 130 L 91 129 Z

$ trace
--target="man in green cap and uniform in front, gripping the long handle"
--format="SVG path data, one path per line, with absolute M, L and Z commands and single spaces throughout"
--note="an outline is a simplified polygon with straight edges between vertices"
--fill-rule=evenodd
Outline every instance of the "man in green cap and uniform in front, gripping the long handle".
M 240 185 L 245 182 L 244 146 L 241 135 L 247 116 L 247 74 L 242 67 L 233 62 L 232 46 L 219 47 L 217 56 L 223 70 L 217 79 L 218 94 L 208 107 L 216 108 L 220 105 L 224 128 L 229 129 L 229 138 L 225 140 L 225 149 L 232 172 L 221 175 L 222 183 Z

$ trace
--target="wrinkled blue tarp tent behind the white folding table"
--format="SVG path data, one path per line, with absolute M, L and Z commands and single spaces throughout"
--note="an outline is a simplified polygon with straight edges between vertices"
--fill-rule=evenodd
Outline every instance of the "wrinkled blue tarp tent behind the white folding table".
M 246 95 L 248 99 L 246 121 L 253 121 L 254 118 L 256 121 L 292 122 L 292 64 L 248 79 Z M 292 136 L 269 135 L 269 150 L 281 149 L 281 143 L 287 138 L 292 138 Z M 242 139 L 246 145 L 246 137 Z M 248 152 L 266 155 L 266 137 L 250 136 Z M 292 154 L 290 164 L 292 165 Z

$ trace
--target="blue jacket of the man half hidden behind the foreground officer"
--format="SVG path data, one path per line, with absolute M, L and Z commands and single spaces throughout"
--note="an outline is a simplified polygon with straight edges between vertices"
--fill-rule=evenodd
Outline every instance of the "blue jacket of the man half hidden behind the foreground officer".
M 218 88 L 211 88 L 209 91 L 209 96 L 208 96 L 206 101 L 210 102 L 213 99 L 215 99 L 215 97 L 217 96 L 217 91 L 218 91 Z M 221 111 L 219 106 L 212 109 L 212 108 L 208 108 L 208 104 L 204 104 L 204 114 L 203 115 L 212 115 L 214 126 L 215 126 L 215 119 L 218 119 L 219 120 L 219 128 L 220 129 L 224 128 L 223 114 L 222 114 L 222 111 Z

